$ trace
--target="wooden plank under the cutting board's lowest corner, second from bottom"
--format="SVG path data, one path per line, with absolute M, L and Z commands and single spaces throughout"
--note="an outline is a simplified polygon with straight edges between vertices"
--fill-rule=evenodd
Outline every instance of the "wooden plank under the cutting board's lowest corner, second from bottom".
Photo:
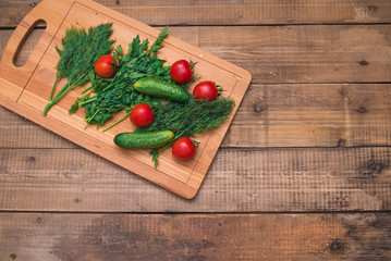
M 1 149 L 0 210 L 225 212 L 391 209 L 391 148 L 221 149 L 182 199 L 84 149 Z

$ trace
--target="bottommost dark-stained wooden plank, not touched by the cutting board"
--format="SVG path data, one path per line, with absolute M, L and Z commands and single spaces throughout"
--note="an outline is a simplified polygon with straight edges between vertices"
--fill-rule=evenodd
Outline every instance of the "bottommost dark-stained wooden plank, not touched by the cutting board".
M 9 260 L 389 260 L 388 213 L 0 213 Z

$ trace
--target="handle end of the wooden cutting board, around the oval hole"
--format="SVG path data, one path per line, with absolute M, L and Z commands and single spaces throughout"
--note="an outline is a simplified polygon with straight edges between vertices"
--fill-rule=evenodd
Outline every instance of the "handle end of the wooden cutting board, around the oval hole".
M 22 89 L 26 86 L 29 77 L 36 70 L 39 61 L 52 41 L 61 22 L 64 20 L 69 9 L 63 8 L 58 0 L 45 0 L 37 4 L 17 25 L 8 41 L 1 58 L 1 77 L 15 84 Z M 64 2 L 68 2 L 64 0 Z M 15 65 L 15 60 L 27 37 L 37 24 L 45 22 L 47 27 L 40 39 L 30 52 L 27 61 L 22 66 Z

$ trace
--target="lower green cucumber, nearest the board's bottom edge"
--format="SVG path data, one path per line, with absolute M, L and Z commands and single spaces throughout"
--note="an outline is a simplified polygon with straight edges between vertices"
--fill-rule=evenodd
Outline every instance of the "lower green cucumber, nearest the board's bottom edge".
M 154 149 L 171 141 L 174 134 L 171 130 L 155 133 L 120 133 L 114 137 L 114 144 L 124 149 Z

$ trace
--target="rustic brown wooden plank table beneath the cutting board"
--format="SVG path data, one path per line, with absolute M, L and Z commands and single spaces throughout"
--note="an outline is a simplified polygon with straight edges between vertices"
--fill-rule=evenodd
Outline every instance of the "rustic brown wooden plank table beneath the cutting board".
M 391 1 L 97 2 L 252 85 L 192 200 L 0 108 L 0 260 L 391 259 Z

